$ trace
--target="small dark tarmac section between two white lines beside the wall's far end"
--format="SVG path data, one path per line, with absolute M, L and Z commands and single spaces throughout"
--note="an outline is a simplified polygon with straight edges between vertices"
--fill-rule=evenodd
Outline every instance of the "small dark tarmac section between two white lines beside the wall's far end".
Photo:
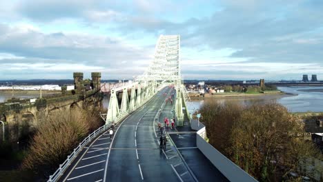
M 196 147 L 196 134 L 169 134 L 177 148 Z

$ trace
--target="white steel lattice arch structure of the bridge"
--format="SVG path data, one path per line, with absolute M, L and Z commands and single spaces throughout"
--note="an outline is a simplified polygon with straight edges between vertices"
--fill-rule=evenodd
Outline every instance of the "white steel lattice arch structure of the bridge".
M 129 81 L 110 88 L 110 102 L 108 113 L 101 114 L 106 123 L 119 121 L 130 112 L 133 112 L 146 103 L 159 88 L 173 85 L 176 89 L 175 117 L 182 124 L 184 113 L 183 104 L 189 99 L 186 88 L 182 84 L 180 69 L 180 37 L 179 35 L 161 35 L 155 47 L 155 56 L 150 61 L 144 74 L 139 75 L 135 81 Z M 128 90 L 131 90 L 128 99 Z M 137 90 L 137 92 L 136 92 Z M 119 108 L 117 92 L 123 92 L 121 106 Z

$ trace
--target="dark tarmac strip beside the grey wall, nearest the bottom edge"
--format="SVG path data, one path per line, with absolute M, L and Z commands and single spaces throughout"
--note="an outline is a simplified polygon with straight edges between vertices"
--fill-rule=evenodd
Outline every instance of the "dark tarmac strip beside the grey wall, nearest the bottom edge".
M 199 181 L 210 181 L 210 179 L 212 181 L 228 181 L 198 148 L 182 149 L 179 152 Z

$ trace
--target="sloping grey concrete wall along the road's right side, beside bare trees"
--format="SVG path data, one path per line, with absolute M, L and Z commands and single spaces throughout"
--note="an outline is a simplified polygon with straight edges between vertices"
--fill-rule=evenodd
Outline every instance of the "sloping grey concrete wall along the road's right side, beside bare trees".
M 229 181 L 257 181 L 246 173 L 242 168 L 226 158 L 221 152 L 216 150 L 210 143 L 205 141 L 206 127 L 202 123 L 192 120 L 190 126 L 193 130 L 197 130 L 196 143 L 197 148 L 215 165 L 215 167 L 226 176 Z

